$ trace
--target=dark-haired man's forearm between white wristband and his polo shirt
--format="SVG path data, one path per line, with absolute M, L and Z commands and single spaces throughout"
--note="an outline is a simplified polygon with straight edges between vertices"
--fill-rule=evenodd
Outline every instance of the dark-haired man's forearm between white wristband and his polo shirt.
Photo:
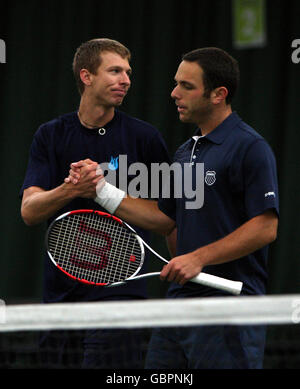
M 168 235 L 175 223 L 158 208 L 157 202 L 145 199 L 125 197 L 115 211 L 120 219 L 145 230 Z

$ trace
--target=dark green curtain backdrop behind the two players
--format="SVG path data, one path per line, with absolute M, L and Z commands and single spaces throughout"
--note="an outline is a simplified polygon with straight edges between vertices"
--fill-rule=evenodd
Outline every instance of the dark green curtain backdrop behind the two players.
M 2 1 L 0 39 L 0 298 L 38 301 L 42 286 L 43 226 L 20 217 L 20 186 L 38 126 L 77 108 L 71 63 L 76 48 L 110 37 L 133 54 L 132 88 L 122 109 L 157 126 L 170 152 L 193 128 L 178 121 L 170 92 L 181 55 L 203 46 L 228 50 L 240 62 L 241 85 L 234 109 L 271 144 L 278 163 L 281 219 L 270 250 L 269 293 L 300 292 L 299 90 L 300 64 L 291 43 L 300 39 L 300 2 L 269 0 L 267 45 L 236 50 L 230 0 Z M 153 238 L 167 254 L 164 241 Z M 165 285 L 152 281 L 161 296 Z

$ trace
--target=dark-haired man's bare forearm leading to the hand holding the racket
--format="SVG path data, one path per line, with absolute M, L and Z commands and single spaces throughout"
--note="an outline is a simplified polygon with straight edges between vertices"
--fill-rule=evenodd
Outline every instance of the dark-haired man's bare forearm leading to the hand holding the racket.
M 257 216 L 241 227 L 207 246 L 194 251 L 203 266 L 242 258 L 276 239 L 278 219 L 273 212 Z

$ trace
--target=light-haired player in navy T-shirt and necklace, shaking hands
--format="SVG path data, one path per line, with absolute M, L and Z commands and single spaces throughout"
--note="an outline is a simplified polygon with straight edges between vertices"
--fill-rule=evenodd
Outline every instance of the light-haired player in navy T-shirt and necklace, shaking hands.
M 45 221 L 49 225 L 58 215 L 74 209 L 103 211 L 91 200 L 101 178 L 94 177 L 92 169 L 82 175 L 78 185 L 64 183 L 74 161 L 113 161 L 111 169 L 116 172 L 120 155 L 127 156 L 128 164 L 142 162 L 148 168 L 154 162 L 169 162 L 160 132 L 118 109 L 131 85 L 130 58 L 130 51 L 111 39 L 93 39 L 77 49 L 73 71 L 81 95 L 79 109 L 41 125 L 34 135 L 21 189 L 21 214 L 27 225 Z M 118 185 L 117 174 L 116 178 Z M 134 175 L 127 178 L 129 183 Z M 143 239 L 149 239 L 149 232 L 138 231 Z M 43 298 L 46 303 L 147 297 L 145 281 L 111 289 L 78 284 L 54 268 L 47 255 L 44 268 Z M 62 334 L 62 339 L 57 340 L 47 334 L 43 349 L 55 347 L 52 354 L 56 359 L 51 364 L 45 361 L 46 366 L 62 367 L 64 352 L 70 347 L 67 335 Z M 83 340 L 83 367 L 142 366 L 142 331 L 89 330 L 84 333 Z M 43 355 L 47 356 L 47 351 Z

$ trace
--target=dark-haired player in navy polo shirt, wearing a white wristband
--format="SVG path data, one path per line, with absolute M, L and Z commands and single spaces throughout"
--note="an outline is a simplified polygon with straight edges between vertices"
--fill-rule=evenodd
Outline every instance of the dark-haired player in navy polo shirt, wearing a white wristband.
M 202 270 L 242 281 L 243 295 L 264 294 L 268 245 L 276 239 L 279 215 L 276 162 L 263 137 L 232 111 L 237 61 L 218 48 L 194 50 L 183 56 L 175 82 L 171 96 L 179 118 L 197 130 L 174 161 L 189 164 L 194 182 L 197 163 L 204 164 L 203 206 L 187 209 L 191 199 L 184 190 L 182 198 L 162 198 L 158 205 L 121 194 L 117 199 L 118 190 L 104 178 L 97 202 L 142 228 L 168 234 L 177 226 L 176 256 L 160 273 L 172 282 L 168 298 L 226 295 L 188 282 Z M 67 182 L 79 183 L 89 166 L 73 165 Z M 258 369 L 264 345 L 263 326 L 155 329 L 146 368 Z

